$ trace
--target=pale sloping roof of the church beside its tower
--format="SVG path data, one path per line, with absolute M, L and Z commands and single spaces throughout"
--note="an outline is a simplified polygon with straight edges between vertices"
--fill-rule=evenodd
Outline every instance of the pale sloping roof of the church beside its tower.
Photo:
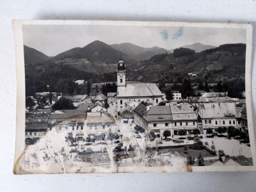
M 155 83 L 126 84 L 126 86 L 118 86 L 117 92 L 117 97 L 162 96 Z

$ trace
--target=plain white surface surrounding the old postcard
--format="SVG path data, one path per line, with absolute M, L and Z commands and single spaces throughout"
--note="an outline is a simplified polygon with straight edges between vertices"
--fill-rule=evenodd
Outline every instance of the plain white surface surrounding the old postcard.
M 256 191 L 256 173 L 13 175 L 16 113 L 13 19 L 251 23 L 254 29 L 252 97 L 255 100 L 256 1 L 0 0 L 0 191 Z M 253 102 L 253 118 L 255 109 Z

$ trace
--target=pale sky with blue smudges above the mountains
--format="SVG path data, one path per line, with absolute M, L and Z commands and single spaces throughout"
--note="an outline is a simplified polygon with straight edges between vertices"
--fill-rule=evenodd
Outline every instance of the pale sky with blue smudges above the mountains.
M 141 47 L 173 49 L 199 42 L 205 45 L 246 43 L 245 29 L 141 27 L 141 26 L 22 26 L 24 45 L 47 56 L 55 56 L 74 47 L 84 47 L 95 40 L 106 44 L 129 42 Z

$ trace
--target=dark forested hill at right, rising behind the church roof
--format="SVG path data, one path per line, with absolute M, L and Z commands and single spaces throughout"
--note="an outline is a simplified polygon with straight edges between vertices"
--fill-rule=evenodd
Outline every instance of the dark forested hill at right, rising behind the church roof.
M 177 77 L 188 76 L 189 73 L 196 75 L 193 78 L 207 75 L 212 82 L 244 79 L 245 52 L 245 44 L 225 44 L 202 52 L 179 48 L 172 54 L 157 54 L 150 60 L 140 62 L 131 76 L 154 82 L 165 76 L 166 83 L 172 83 Z

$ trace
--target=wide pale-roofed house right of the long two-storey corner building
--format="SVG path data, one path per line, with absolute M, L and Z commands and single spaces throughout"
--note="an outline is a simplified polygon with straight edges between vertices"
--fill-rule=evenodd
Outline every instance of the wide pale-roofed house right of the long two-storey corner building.
M 198 106 L 199 122 L 202 122 L 204 131 L 207 128 L 234 126 L 237 128 L 237 112 L 234 102 L 204 103 Z

